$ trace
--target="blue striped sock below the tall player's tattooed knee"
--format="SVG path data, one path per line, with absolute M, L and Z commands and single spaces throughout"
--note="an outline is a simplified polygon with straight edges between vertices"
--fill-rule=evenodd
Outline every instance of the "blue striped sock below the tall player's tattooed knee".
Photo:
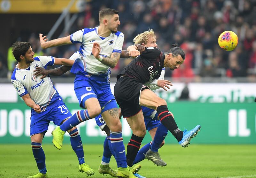
M 110 131 L 110 142 L 113 149 L 112 153 L 116 158 L 117 167 L 127 167 L 122 131 Z

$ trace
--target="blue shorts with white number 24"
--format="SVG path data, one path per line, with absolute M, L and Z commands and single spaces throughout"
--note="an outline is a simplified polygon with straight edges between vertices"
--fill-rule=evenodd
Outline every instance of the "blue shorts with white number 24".
M 72 114 L 63 102 L 43 112 L 33 112 L 30 117 L 30 137 L 37 133 L 45 133 L 48 130 L 50 121 L 55 125 L 60 125 L 63 120 L 71 116 Z

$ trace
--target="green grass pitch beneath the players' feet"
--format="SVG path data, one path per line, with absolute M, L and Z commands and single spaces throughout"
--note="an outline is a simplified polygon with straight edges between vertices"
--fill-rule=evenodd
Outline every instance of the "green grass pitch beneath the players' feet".
M 43 144 L 49 178 L 86 177 L 78 171 L 78 161 L 70 145 L 61 150 Z M 102 145 L 84 144 L 85 162 L 95 170 L 92 177 L 107 178 L 98 173 Z M 242 178 L 256 177 L 256 145 L 195 145 L 187 148 L 164 145 L 159 153 L 166 167 L 143 160 L 139 173 L 147 178 Z M 30 144 L 0 145 L 0 177 L 27 177 L 38 173 Z M 114 159 L 110 165 L 116 169 Z

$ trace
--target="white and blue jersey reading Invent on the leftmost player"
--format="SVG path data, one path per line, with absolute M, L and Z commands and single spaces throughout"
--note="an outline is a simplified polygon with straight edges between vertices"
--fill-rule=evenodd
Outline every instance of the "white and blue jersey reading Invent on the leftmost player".
M 29 94 L 30 98 L 41 107 L 41 112 L 56 100 L 62 100 L 52 84 L 49 76 L 40 79 L 41 76 L 33 75 L 36 67 L 46 68 L 54 64 L 52 56 L 38 56 L 26 69 L 15 68 L 12 73 L 12 85 L 21 96 Z

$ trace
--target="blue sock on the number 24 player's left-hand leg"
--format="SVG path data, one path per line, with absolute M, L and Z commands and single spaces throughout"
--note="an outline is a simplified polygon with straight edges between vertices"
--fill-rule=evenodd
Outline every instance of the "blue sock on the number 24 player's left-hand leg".
M 41 143 L 31 142 L 32 152 L 36 160 L 37 168 L 42 174 L 46 174 L 45 154 Z

